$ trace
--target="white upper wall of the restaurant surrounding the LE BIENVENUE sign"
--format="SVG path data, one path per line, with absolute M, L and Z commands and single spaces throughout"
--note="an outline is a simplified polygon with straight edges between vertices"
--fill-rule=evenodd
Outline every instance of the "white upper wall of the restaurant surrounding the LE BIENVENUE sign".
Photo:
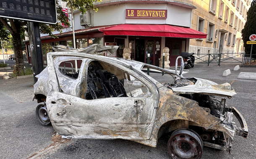
M 121 3 L 99 7 L 98 12 L 90 10 L 92 26 L 107 26 L 115 24 L 169 24 L 175 26 L 191 26 L 192 10 L 189 8 L 171 5 L 167 3 Z M 125 18 L 125 9 L 167 9 L 167 19 L 159 18 Z M 64 28 L 63 33 L 72 31 L 72 17 L 69 14 L 71 26 Z M 83 29 L 80 25 L 80 13 L 74 13 L 75 30 Z M 53 31 L 53 34 L 59 33 Z M 47 36 L 41 34 L 42 36 Z

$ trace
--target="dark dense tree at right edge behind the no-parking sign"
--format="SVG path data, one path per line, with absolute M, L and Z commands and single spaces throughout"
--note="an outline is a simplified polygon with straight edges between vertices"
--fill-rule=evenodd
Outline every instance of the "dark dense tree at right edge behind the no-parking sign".
M 256 34 L 256 0 L 251 2 L 251 7 L 247 12 L 247 21 L 242 30 L 243 46 L 245 47 L 245 53 L 251 53 L 251 44 L 246 44 L 251 34 Z M 253 45 L 252 54 L 256 54 L 256 44 Z M 256 57 L 256 56 L 255 56 Z

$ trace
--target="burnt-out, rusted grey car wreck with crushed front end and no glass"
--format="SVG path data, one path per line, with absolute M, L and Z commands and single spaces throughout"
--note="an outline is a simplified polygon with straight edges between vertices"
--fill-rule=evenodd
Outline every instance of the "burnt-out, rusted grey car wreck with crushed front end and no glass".
M 171 133 L 167 148 L 173 159 L 200 159 L 203 146 L 230 152 L 235 135 L 247 137 L 245 119 L 225 103 L 235 90 L 183 77 L 182 57 L 180 72 L 178 59 L 173 72 L 85 53 L 50 52 L 48 66 L 36 76 L 34 99 L 43 102 L 37 118 L 62 138 L 122 138 L 156 147 L 158 138 Z M 165 72 L 170 81 L 158 82 L 144 67 Z

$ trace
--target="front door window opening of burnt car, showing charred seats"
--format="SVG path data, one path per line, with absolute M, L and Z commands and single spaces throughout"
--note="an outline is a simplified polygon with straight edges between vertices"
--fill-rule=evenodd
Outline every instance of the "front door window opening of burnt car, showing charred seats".
M 85 99 L 149 96 L 151 92 L 148 87 L 127 72 L 104 62 L 90 62 Z

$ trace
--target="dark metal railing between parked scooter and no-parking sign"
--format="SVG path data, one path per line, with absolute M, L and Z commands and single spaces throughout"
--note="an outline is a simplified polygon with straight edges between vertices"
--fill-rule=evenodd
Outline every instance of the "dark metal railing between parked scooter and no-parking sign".
M 243 58 L 240 60 L 236 57 L 243 57 L 244 53 L 220 53 L 220 54 L 198 54 L 195 56 L 195 62 L 197 63 L 217 63 L 220 66 L 221 62 L 230 62 L 228 60 L 232 59 L 232 63 L 243 63 Z M 236 59 L 235 59 L 236 58 Z

